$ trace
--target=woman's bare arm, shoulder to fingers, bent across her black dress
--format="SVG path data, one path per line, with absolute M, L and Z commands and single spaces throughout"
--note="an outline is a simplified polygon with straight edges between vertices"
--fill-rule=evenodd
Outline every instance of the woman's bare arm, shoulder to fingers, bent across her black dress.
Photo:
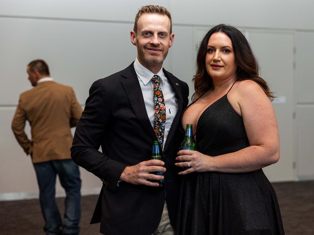
M 238 86 L 234 87 L 236 91 L 228 94 L 228 97 L 232 98 L 231 105 L 243 118 L 250 146 L 215 157 L 198 151 L 181 150 L 176 159 L 183 162 L 176 165 L 184 167 L 190 162 L 191 168 L 179 174 L 193 171 L 249 172 L 279 160 L 279 133 L 271 102 L 254 81 L 246 80 L 237 83 Z

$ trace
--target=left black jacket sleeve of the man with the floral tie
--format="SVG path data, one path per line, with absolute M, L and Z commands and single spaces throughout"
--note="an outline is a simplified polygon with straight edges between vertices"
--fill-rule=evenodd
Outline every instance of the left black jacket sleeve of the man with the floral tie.
M 75 130 L 71 157 L 79 166 L 106 180 L 108 189 L 115 191 L 120 175 L 127 165 L 98 151 L 106 134 L 106 126 L 110 125 L 110 116 L 110 97 L 101 82 L 95 81 L 89 89 L 85 109 Z

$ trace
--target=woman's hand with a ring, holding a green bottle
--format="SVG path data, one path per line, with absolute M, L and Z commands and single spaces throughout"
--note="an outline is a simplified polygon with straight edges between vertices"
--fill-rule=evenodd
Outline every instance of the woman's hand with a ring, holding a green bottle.
M 201 154 L 198 151 L 192 151 L 187 149 L 180 150 L 178 152 L 178 155 L 179 156 L 176 158 L 176 160 L 181 162 L 175 163 L 176 166 L 188 167 L 188 165 L 190 164 L 190 168 L 179 172 L 179 175 L 186 175 L 194 171 L 197 172 L 209 171 L 211 160 L 210 156 Z

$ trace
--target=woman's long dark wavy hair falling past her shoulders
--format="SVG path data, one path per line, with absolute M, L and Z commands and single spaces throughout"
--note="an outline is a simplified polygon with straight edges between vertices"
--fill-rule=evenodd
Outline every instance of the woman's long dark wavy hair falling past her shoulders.
M 213 86 L 213 79 L 207 73 L 205 66 L 205 56 L 207 53 L 207 44 L 210 36 L 214 33 L 221 32 L 228 35 L 231 39 L 235 53 L 237 69 L 237 80 L 252 80 L 262 87 L 265 94 L 270 100 L 273 100 L 273 93 L 269 90 L 267 82 L 258 74 L 258 64 L 255 59 L 250 44 L 240 32 L 240 30 L 230 25 L 219 24 L 210 29 L 201 41 L 197 54 L 196 75 L 193 77 L 195 92 L 192 95 L 192 101 L 200 97 Z

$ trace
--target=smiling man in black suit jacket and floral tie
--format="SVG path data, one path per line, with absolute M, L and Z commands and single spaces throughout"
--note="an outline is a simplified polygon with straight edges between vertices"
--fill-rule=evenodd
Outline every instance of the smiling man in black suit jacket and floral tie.
M 136 60 L 89 90 L 71 156 L 103 181 L 91 221 L 101 222 L 103 234 L 174 234 L 179 191 L 174 164 L 188 86 L 162 67 L 173 39 L 168 10 L 142 7 L 131 31 Z M 163 161 L 150 160 L 154 140 Z M 165 172 L 165 179 L 151 174 L 156 171 Z M 149 181 L 162 179 L 161 191 Z

